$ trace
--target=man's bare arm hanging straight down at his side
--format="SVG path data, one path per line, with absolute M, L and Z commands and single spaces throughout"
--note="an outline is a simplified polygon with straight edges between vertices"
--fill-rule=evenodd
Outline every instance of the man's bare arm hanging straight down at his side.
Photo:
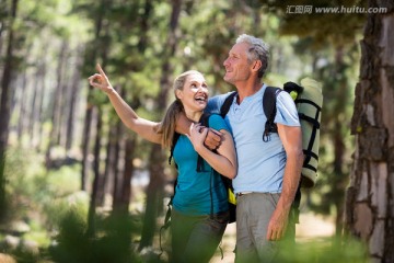
M 279 240 L 286 232 L 289 213 L 300 183 L 304 160 L 301 127 L 285 126 L 281 124 L 277 124 L 277 126 L 279 137 L 287 155 L 287 162 L 285 167 L 282 192 L 268 224 L 267 240 Z

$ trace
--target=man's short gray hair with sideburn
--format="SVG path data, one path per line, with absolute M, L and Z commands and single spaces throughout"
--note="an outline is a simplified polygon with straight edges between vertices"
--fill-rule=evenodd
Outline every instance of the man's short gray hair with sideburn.
M 247 50 L 247 59 L 250 60 L 250 62 L 252 62 L 253 60 L 256 60 L 256 59 L 262 61 L 262 67 L 258 70 L 258 78 L 263 78 L 265 71 L 268 68 L 269 45 L 266 44 L 260 38 L 257 38 L 257 37 L 254 37 L 251 35 L 246 35 L 246 34 L 240 35 L 236 38 L 235 43 L 236 44 L 239 44 L 239 43 L 250 44 L 250 48 Z

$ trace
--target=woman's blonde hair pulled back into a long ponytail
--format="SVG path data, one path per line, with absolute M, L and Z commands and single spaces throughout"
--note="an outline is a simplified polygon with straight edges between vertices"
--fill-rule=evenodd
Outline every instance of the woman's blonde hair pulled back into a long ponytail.
M 159 133 L 161 133 L 163 135 L 162 141 L 161 141 L 163 147 L 171 148 L 173 137 L 175 134 L 176 121 L 179 116 L 179 113 L 182 113 L 184 111 L 182 101 L 176 96 L 176 91 L 183 90 L 187 77 L 189 77 L 190 75 L 195 75 L 195 73 L 201 75 L 201 72 L 199 72 L 197 70 L 188 70 L 186 72 L 183 72 L 178 77 L 176 77 L 176 79 L 174 80 L 173 90 L 174 90 L 175 101 L 170 104 L 170 106 L 159 126 Z

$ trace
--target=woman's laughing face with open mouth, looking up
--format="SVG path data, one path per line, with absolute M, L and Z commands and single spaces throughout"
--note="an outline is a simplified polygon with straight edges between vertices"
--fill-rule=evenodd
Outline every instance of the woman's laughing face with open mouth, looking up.
M 182 101 L 185 110 L 189 111 L 204 111 L 208 95 L 208 85 L 200 73 L 187 76 L 183 90 L 176 91 L 176 96 Z

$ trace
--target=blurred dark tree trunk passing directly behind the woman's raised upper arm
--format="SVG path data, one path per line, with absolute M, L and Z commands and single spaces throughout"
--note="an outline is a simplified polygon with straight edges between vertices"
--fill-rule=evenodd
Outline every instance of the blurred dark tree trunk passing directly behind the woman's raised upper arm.
M 175 55 L 177 48 L 177 36 L 176 28 L 178 25 L 179 13 L 182 10 L 182 0 L 172 1 L 172 14 L 169 25 L 169 35 L 166 39 L 166 47 L 164 49 L 163 66 L 162 66 L 162 77 L 160 80 L 161 92 L 158 96 L 158 112 L 164 112 L 166 107 L 166 98 L 171 89 L 172 81 L 170 76 L 172 76 L 172 65 L 170 64 L 170 58 Z M 163 182 L 164 182 L 164 155 L 161 149 L 161 146 L 154 145 L 151 149 L 150 155 L 150 181 L 147 190 L 147 206 L 146 214 L 142 226 L 141 242 L 139 250 L 142 250 L 146 247 L 152 245 L 153 236 L 157 227 L 157 217 L 158 211 L 163 209 L 162 198 L 163 198 Z

